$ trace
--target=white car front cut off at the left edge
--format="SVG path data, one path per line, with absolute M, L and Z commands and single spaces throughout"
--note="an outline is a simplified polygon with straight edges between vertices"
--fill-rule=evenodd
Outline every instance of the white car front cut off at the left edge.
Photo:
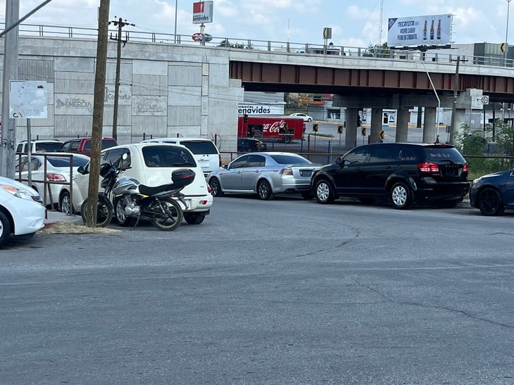
M 0 177 L 0 246 L 10 236 L 32 235 L 44 227 L 46 210 L 26 184 Z

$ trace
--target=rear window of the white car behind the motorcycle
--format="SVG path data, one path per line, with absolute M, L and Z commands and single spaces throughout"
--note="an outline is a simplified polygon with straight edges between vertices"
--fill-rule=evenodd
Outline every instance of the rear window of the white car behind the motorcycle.
M 146 167 L 196 167 L 192 154 L 178 146 L 146 146 L 142 153 Z

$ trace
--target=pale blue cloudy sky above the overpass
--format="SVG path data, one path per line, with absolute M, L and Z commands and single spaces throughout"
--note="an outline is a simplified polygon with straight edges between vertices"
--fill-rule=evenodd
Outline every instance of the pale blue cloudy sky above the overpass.
M 8 1 L 19 1 L 21 18 L 44 0 Z M 199 32 L 199 25 L 192 23 L 194 2 L 111 0 L 109 20 L 123 18 L 135 24 L 124 30 L 173 34 L 176 14 L 177 34 L 189 37 Z M 99 4 L 100 0 L 52 0 L 24 23 L 96 28 Z M 207 23 L 204 32 L 228 39 L 323 44 L 323 28 L 329 27 L 334 45 L 367 47 L 387 42 L 389 18 L 448 13 L 453 15 L 455 44 L 501 43 L 506 37 L 514 44 L 514 22 L 508 27 L 514 2 L 510 7 L 508 0 L 213 0 L 213 23 Z M 5 15 L 6 0 L 0 0 L 1 23 Z

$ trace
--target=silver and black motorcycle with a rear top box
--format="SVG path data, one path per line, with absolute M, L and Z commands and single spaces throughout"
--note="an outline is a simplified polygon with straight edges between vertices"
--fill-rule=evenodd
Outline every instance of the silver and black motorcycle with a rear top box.
M 101 165 L 100 175 L 104 178 L 101 186 L 104 187 L 104 193 L 99 194 L 99 211 L 105 211 L 105 216 L 111 213 L 111 218 L 114 213 L 119 225 L 133 225 L 133 229 L 142 217 L 151 220 L 153 226 L 160 230 L 177 229 L 184 217 L 182 206 L 177 200 L 184 208 L 188 207 L 184 194 L 180 191 L 193 182 L 195 172 L 188 168 L 174 170 L 171 174 L 172 183 L 149 187 L 134 178 L 120 178 L 119 175 L 124 171 L 125 169 L 116 168 L 109 163 Z M 111 193 L 114 205 L 108 199 Z M 100 226 L 105 226 L 108 222 L 110 220 L 107 221 L 103 214 L 100 219 L 97 217 L 97 224 Z

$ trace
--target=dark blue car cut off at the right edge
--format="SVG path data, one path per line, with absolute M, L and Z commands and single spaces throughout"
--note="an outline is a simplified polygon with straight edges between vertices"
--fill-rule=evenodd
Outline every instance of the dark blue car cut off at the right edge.
M 470 205 L 484 215 L 501 215 L 514 208 L 514 169 L 475 179 L 470 189 Z

